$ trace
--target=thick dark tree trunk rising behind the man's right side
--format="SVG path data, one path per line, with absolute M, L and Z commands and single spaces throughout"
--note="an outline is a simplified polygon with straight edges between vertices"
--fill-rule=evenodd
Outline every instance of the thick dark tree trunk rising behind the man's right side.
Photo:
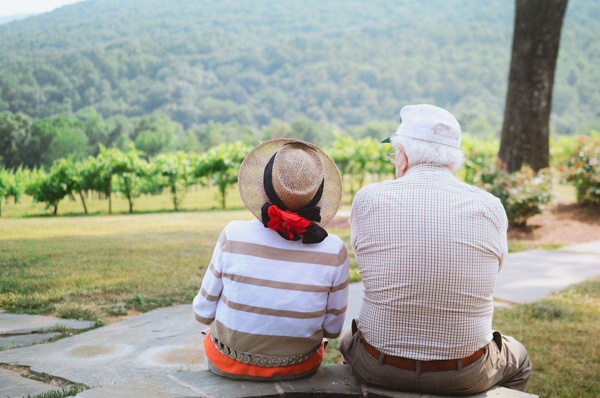
M 511 70 L 499 157 L 508 171 L 548 167 L 549 121 L 560 30 L 568 0 L 516 0 Z

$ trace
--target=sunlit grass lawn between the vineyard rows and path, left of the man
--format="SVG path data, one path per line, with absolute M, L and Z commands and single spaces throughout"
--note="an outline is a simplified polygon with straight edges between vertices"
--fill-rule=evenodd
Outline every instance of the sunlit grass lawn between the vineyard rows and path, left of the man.
M 190 302 L 223 227 L 251 218 L 237 210 L 2 219 L 0 307 L 106 320 Z M 349 245 L 349 230 L 330 232 Z

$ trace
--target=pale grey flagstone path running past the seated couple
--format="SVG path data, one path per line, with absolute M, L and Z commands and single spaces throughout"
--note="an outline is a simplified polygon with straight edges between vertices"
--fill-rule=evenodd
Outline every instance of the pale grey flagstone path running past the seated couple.
M 505 304 L 504 302 L 533 302 L 550 292 L 564 289 L 569 284 L 600 275 L 600 250 L 596 250 L 600 242 L 583 248 L 577 246 L 581 245 L 567 246 L 561 251 L 530 250 L 509 254 L 498 275 L 494 298 L 501 300 L 500 305 Z M 580 251 L 583 254 L 578 253 Z M 361 301 L 362 283 L 350 284 L 346 326 L 350 325 L 353 317 L 358 317 Z M 7 314 L 5 311 L 0 312 L 0 327 L 3 329 L 31 332 L 35 327 L 40 327 L 35 322 L 41 322 L 41 319 L 35 318 L 34 322 L 31 318 L 38 316 L 22 317 L 23 323 L 28 325 L 22 327 L 17 322 L 20 315 Z M 12 319 L 10 328 L 6 326 L 8 323 L 2 322 L 3 319 Z M 36 326 L 32 326 L 32 322 Z M 45 326 L 41 327 L 51 327 L 55 323 L 68 323 L 73 325 L 71 327 L 83 326 L 83 323 L 77 323 L 79 321 L 56 318 L 44 322 Z M 89 322 L 85 324 L 87 326 Z M 206 369 L 200 344 L 202 329 L 203 325 L 194 320 L 191 305 L 160 308 L 53 343 L 1 351 L 0 364 L 31 366 L 32 372 L 46 373 L 90 386 L 130 381 L 128 385 L 139 387 L 139 381 L 135 380 L 147 376 Z M 14 382 L 11 381 L 14 372 L 11 373 L 13 374 L 0 373 L 0 386 L 14 387 Z M 184 373 L 176 375 L 179 378 Z M 179 387 L 172 385 L 170 381 L 173 380 L 169 381 L 165 377 L 167 376 L 152 377 L 152 383 L 156 385 L 148 387 L 149 390 L 160 388 L 158 385 L 164 382 L 164 388 L 167 388 L 167 384 L 171 385 L 175 388 L 172 394 L 178 395 Z M 146 382 L 145 385 L 149 384 Z M 53 388 L 50 385 L 47 387 Z M 171 390 L 168 388 L 164 391 L 170 394 Z M 26 391 L 25 387 L 22 391 Z M 98 396 L 91 391 L 96 390 L 86 391 L 80 396 Z M 104 388 L 104 391 L 112 390 Z M 1 394 L 0 389 L 0 396 Z M 13 396 L 19 395 L 13 393 Z

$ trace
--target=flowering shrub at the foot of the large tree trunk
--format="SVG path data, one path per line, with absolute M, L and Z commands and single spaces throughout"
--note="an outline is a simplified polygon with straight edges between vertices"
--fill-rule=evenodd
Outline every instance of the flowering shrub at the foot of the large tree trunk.
M 551 173 L 543 169 L 538 173 L 523 166 L 515 173 L 508 173 L 506 165 L 497 160 L 495 165 L 481 174 L 486 191 L 498 197 L 511 225 L 526 225 L 527 219 L 540 214 L 551 200 Z

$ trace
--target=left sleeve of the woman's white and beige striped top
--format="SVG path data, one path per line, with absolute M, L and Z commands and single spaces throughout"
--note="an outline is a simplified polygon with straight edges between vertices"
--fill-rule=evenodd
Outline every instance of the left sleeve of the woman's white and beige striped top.
M 215 319 L 217 313 L 218 300 L 223 291 L 223 261 L 221 260 L 222 252 L 221 245 L 226 242 L 225 230 L 221 232 L 221 236 L 212 253 L 211 263 L 206 270 L 206 274 L 202 279 L 202 287 L 200 292 L 194 298 L 192 307 L 194 309 L 194 317 L 198 322 L 210 325 Z

